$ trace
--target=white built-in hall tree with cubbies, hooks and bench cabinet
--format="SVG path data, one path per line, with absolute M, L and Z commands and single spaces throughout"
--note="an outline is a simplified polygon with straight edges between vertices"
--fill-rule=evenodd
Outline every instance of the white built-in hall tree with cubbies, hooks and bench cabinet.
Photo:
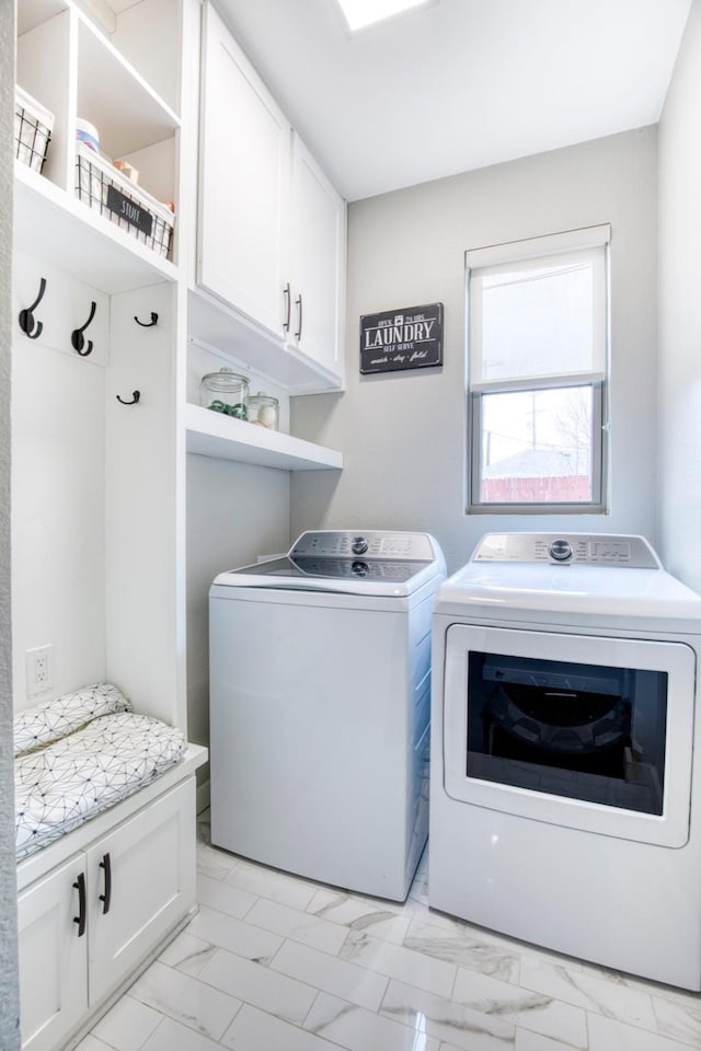
M 151 19 L 151 41 L 168 14 L 165 35 L 180 33 L 181 0 L 142 0 L 137 7 L 138 18 Z M 108 0 L 100 8 L 108 12 Z M 112 681 L 135 711 L 185 731 L 185 596 L 179 573 L 185 441 L 176 382 L 186 299 L 177 243 L 180 101 L 173 94 L 165 102 L 149 82 L 151 57 L 159 80 L 169 80 L 152 43 L 151 56 L 148 48 L 141 51 L 139 68 L 117 49 L 113 41 L 131 39 L 139 56 L 143 35 L 124 25 L 134 12 L 113 14 L 112 30 L 105 30 L 93 26 L 72 0 L 18 2 L 18 83 L 55 123 L 42 174 L 15 161 L 15 706 Z M 168 51 L 173 73 L 180 71 L 179 50 L 180 45 Z M 122 157 L 139 170 L 139 187 L 175 203 L 170 258 L 76 196 L 78 117 L 95 124 L 107 157 Z M 24 333 L 19 313 L 42 279 L 36 325 Z M 154 314 L 157 323 L 147 327 Z M 85 324 L 81 349 L 90 349 L 89 340 L 93 347 L 83 355 L 71 333 Z M 140 400 L 130 404 L 135 390 Z M 24 655 L 37 639 L 53 647 L 54 682 L 50 692 L 30 698 Z M 126 806 L 111 808 L 20 867 L 21 1031 L 27 1051 L 62 1048 L 191 914 L 195 770 L 206 755 L 192 747 L 187 755 L 149 786 L 151 793 L 136 793 Z M 114 853 L 115 876 L 122 870 L 128 916 L 115 906 L 114 917 L 106 917 L 114 920 L 111 926 L 94 910 L 79 938 L 77 875 L 83 874 L 92 894 L 91 880 L 100 886 L 95 859 L 105 852 Z M 143 880 L 161 858 L 168 878 L 154 880 L 145 896 Z M 149 899 L 149 914 L 139 913 Z

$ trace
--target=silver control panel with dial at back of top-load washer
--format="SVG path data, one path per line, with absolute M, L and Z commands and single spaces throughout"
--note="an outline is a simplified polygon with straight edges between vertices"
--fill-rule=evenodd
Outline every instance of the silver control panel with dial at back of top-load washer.
M 291 558 L 353 558 L 363 556 L 402 562 L 433 562 L 434 546 L 426 533 L 386 530 L 315 530 L 302 533 L 290 548 Z

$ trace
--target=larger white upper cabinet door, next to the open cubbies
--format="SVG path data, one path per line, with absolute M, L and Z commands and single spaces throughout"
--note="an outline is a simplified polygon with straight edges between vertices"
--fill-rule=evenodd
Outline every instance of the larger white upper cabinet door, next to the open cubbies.
M 198 284 L 283 337 L 290 126 L 207 4 Z

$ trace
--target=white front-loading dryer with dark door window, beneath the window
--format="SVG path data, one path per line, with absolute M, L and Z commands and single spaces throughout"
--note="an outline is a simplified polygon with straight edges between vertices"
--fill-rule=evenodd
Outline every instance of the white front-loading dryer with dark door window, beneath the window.
M 484 536 L 436 596 L 429 904 L 699 990 L 700 652 L 642 538 Z

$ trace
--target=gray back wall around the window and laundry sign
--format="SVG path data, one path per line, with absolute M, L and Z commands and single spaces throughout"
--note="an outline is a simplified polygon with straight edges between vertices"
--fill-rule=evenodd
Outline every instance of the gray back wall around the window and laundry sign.
M 291 532 L 428 530 L 452 571 L 490 529 L 656 540 L 657 132 L 643 128 L 369 198 L 348 216 L 347 391 L 294 399 L 292 430 L 345 453 L 292 481 Z M 611 510 L 464 515 L 464 251 L 610 222 Z M 358 317 L 445 304 L 443 369 L 358 373 Z

